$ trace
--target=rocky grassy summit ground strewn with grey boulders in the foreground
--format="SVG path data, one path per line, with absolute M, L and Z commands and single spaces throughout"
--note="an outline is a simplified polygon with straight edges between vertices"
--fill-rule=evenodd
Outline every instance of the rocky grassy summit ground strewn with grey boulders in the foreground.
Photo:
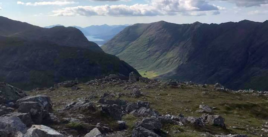
M 259 137 L 267 91 L 130 74 L 21 91 L 0 83 L 0 137 Z

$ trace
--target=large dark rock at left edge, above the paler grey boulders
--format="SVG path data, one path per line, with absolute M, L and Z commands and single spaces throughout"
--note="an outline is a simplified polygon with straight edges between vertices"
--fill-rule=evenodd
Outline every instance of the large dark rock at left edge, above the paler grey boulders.
M 8 102 L 15 102 L 18 99 L 27 96 L 27 94 L 4 82 L 0 82 L 0 103 L 8 103 Z

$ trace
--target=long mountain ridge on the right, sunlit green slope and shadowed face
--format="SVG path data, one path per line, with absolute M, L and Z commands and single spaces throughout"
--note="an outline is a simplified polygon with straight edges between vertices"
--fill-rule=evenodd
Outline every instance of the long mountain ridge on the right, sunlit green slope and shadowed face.
M 161 78 L 268 90 L 268 21 L 135 24 L 102 49 Z

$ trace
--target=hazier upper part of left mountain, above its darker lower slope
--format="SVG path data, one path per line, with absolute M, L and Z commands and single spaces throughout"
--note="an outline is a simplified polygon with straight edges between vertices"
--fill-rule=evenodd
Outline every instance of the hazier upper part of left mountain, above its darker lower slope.
M 0 16 L 0 36 L 50 41 L 60 46 L 80 47 L 103 52 L 96 43 L 88 41 L 83 33 L 74 27 L 57 26 L 48 29 Z

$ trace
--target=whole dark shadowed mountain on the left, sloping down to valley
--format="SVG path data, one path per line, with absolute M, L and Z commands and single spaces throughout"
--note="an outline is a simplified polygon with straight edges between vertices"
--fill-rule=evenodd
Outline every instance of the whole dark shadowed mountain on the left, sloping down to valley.
M 138 74 L 87 41 L 76 28 L 46 29 L 1 17 L 0 30 L 0 81 L 22 89 L 49 87 L 75 78 L 88 81 L 108 74 Z

